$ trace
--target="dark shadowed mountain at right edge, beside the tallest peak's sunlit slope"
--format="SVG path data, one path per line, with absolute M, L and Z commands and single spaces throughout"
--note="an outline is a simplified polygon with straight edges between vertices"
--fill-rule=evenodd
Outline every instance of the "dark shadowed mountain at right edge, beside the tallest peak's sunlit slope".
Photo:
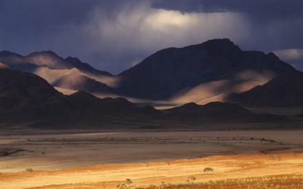
M 227 100 L 252 107 L 303 106 L 303 76 L 275 77 L 247 92 L 232 93 Z

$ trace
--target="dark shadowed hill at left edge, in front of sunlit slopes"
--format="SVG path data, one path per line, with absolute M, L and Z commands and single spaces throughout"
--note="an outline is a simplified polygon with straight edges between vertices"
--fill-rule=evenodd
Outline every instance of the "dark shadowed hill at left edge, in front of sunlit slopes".
M 24 123 L 30 106 L 61 95 L 36 74 L 0 68 L 0 124 Z

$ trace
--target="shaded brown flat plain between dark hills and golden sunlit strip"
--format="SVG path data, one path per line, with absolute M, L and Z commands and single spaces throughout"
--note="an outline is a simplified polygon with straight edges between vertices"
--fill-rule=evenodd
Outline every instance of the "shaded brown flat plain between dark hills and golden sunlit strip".
M 0 172 L 303 151 L 303 130 L 74 132 L 1 132 Z

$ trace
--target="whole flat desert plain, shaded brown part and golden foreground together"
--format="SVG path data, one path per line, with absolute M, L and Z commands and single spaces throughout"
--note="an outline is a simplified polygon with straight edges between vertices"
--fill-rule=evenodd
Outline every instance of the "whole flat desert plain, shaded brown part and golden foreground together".
M 302 136 L 278 129 L 1 130 L 0 186 L 300 188 Z

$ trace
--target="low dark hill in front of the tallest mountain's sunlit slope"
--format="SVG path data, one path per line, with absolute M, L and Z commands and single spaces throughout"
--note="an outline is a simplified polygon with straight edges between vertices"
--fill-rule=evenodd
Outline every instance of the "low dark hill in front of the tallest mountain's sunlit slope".
M 167 119 L 178 121 L 267 123 L 289 121 L 288 118 L 272 114 L 255 114 L 236 103 L 211 102 L 205 105 L 186 103 L 164 111 Z

